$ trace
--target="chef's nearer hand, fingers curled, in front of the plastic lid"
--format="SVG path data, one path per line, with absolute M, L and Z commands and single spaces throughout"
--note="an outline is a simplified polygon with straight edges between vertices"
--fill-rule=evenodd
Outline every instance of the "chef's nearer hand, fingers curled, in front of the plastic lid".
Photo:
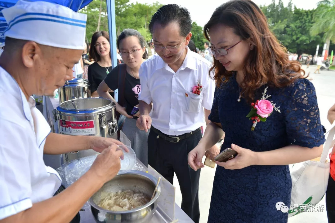
M 125 151 L 129 152 L 126 148 Z M 122 150 L 118 148 L 118 145 L 113 144 L 97 155 L 91 168 L 89 169 L 89 172 L 95 176 L 95 179 L 104 184 L 118 174 L 121 168 L 120 157 L 122 156 Z

